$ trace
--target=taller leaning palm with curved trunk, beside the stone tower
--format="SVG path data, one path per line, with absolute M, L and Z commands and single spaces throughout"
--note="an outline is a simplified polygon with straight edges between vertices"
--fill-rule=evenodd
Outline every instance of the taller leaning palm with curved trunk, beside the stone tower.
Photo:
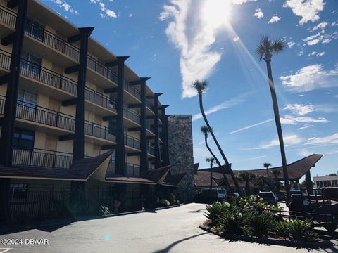
M 208 87 L 208 82 L 206 82 L 206 80 L 203 80 L 201 82 L 196 80 L 192 84 L 192 86 L 196 89 L 197 93 L 199 93 L 199 109 L 201 110 L 201 114 L 202 114 L 202 117 L 204 119 L 204 122 L 206 122 L 206 126 L 208 127 L 209 132 L 210 132 L 211 136 L 213 137 L 213 141 L 215 141 L 215 144 L 218 148 L 218 151 L 220 152 L 220 155 L 222 155 L 223 160 L 225 162 L 225 165 L 227 166 L 227 169 L 230 171 L 230 175 L 232 177 L 232 181 L 234 181 L 234 186 L 236 187 L 237 193 L 240 194 L 241 191 L 240 191 L 238 183 L 237 183 L 237 181 L 234 177 L 234 172 L 231 169 L 231 164 L 228 162 L 227 157 L 225 157 L 225 154 L 224 154 L 222 148 L 220 148 L 220 144 L 218 143 L 218 141 L 215 137 L 215 134 L 213 134 L 213 129 L 211 128 L 211 126 L 208 122 L 208 119 L 206 118 L 206 114 L 204 113 L 202 94 L 203 94 L 203 91 L 206 90 L 206 87 Z

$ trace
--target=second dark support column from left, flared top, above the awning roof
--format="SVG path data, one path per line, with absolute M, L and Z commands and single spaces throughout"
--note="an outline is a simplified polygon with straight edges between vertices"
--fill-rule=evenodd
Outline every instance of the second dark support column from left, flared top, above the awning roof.
M 94 27 L 79 28 L 80 34 L 68 38 L 68 42 L 79 41 L 80 47 L 80 65 L 70 67 L 65 72 L 78 71 L 77 77 L 77 98 L 76 98 L 76 116 L 75 116 L 75 136 L 73 143 L 73 162 L 84 159 L 84 112 L 85 112 L 85 91 L 86 91 L 86 74 L 87 74 L 87 52 L 88 39 L 92 34 Z

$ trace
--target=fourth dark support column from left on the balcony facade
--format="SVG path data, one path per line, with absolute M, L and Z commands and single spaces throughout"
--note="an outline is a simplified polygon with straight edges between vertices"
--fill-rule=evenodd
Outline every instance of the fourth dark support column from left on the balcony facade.
M 140 166 L 141 171 L 147 171 L 148 166 L 148 147 L 146 141 L 146 80 L 148 77 L 141 78 L 141 156 L 140 156 Z

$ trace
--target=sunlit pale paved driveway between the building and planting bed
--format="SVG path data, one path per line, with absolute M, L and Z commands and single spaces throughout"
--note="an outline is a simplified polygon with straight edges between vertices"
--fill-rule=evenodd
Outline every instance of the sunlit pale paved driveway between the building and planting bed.
M 198 228 L 199 224 L 204 221 L 203 211 L 204 205 L 189 204 L 160 210 L 156 213 L 130 214 L 107 219 L 80 221 L 61 228 L 44 228 L 44 231 L 34 229 L 1 235 L 0 238 L 46 238 L 49 241 L 47 246 L 14 246 L 8 253 L 308 252 L 306 249 L 292 247 L 228 242 Z M 0 245 L 0 247 L 4 246 Z M 325 252 L 338 252 L 338 247 L 325 249 Z

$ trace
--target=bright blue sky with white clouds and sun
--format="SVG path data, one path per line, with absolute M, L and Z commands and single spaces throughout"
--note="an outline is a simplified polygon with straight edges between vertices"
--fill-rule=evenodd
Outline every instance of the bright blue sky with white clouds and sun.
M 208 167 L 192 89 L 206 79 L 204 109 L 232 169 L 281 165 L 263 34 L 284 39 L 273 55 L 287 162 L 323 154 L 312 176 L 338 171 L 337 0 L 41 0 L 161 92 L 168 114 L 192 115 L 194 162 Z M 220 157 L 211 138 L 213 151 Z

